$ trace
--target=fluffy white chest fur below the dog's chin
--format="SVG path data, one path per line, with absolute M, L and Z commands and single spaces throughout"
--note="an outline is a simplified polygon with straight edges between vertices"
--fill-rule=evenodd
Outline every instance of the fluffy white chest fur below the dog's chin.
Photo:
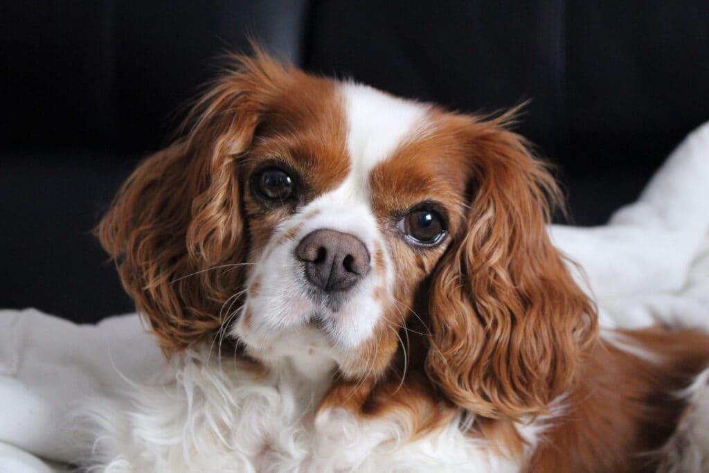
M 411 442 L 406 425 L 362 423 L 343 409 L 314 416 L 330 372 L 284 362 L 256 374 L 240 360 L 190 352 L 167 384 L 90 403 L 92 464 L 110 472 L 513 472 L 519 465 L 458 423 Z M 300 364 L 302 367 L 302 364 Z

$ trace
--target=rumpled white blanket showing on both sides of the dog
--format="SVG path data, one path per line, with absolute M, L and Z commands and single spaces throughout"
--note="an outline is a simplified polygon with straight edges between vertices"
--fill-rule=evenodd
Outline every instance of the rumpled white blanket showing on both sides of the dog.
M 605 327 L 709 330 L 709 123 L 607 225 L 549 231 L 582 268 L 572 270 Z M 66 435 L 72 408 L 85 396 L 117 396 L 163 363 L 135 314 L 74 325 L 33 309 L 0 311 L 0 473 L 50 472 L 59 467 L 38 457 L 84 455 L 91 439 Z

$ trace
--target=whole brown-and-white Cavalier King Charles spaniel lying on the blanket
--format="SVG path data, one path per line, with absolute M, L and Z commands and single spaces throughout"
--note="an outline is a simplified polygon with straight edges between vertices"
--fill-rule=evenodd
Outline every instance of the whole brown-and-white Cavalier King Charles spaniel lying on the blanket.
M 676 393 L 706 383 L 709 338 L 599 330 L 547 235 L 559 190 L 512 116 L 236 57 L 100 223 L 169 362 L 91 406 L 89 467 L 637 472 L 678 456 Z

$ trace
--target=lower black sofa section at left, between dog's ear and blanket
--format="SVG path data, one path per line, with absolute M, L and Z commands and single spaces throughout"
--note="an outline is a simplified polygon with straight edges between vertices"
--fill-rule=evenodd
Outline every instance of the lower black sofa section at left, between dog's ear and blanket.
M 91 232 L 137 158 L 0 154 L 3 308 L 32 306 L 82 323 L 135 310 Z

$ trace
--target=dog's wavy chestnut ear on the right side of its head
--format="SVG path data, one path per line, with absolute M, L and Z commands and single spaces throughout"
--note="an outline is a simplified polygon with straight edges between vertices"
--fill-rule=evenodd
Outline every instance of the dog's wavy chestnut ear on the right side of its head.
M 480 416 L 542 413 L 596 334 L 593 305 L 547 235 L 554 179 L 503 116 L 469 127 L 467 226 L 432 278 L 431 379 Z

